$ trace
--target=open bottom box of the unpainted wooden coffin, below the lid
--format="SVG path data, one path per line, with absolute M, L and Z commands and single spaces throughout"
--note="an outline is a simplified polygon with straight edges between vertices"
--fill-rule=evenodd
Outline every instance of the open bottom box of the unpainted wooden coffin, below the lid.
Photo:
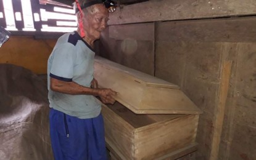
M 118 103 L 102 106 L 105 138 L 115 158 L 156 159 L 194 151 L 199 114 L 138 115 L 120 109 Z

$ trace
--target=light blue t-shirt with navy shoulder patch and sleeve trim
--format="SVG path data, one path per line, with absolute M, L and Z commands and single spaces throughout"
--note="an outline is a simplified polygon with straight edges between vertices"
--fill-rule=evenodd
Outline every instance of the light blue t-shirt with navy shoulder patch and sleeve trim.
M 50 107 L 77 118 L 95 118 L 101 103 L 93 95 L 70 95 L 50 89 L 50 77 L 90 87 L 94 72 L 94 51 L 77 32 L 61 36 L 48 59 L 47 86 Z

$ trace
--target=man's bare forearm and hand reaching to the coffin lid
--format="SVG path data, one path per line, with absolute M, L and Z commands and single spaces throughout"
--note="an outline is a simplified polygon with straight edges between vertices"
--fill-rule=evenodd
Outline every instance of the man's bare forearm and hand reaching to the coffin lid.
M 65 82 L 60 81 L 55 78 L 50 78 L 50 87 L 51 90 L 55 92 L 60 92 L 62 94 L 71 94 L 71 95 L 94 95 L 99 96 L 103 103 L 115 103 L 114 95 L 117 95 L 117 92 L 111 89 L 93 89 L 89 87 L 81 86 L 76 82 Z

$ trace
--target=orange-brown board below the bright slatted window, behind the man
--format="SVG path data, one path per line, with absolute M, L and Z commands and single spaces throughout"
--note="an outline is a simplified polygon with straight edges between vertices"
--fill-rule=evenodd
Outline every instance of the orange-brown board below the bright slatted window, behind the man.
M 0 48 L 0 63 L 23 66 L 36 74 L 47 73 L 47 60 L 56 39 L 34 39 L 33 36 L 10 36 Z

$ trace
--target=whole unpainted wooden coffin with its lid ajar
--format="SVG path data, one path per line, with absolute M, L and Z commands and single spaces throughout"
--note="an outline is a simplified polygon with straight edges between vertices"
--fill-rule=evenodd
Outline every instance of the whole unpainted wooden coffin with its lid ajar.
M 94 77 L 118 92 L 114 105 L 102 105 L 105 140 L 117 159 L 182 156 L 195 146 L 201 111 L 180 87 L 102 57 L 95 58 Z

